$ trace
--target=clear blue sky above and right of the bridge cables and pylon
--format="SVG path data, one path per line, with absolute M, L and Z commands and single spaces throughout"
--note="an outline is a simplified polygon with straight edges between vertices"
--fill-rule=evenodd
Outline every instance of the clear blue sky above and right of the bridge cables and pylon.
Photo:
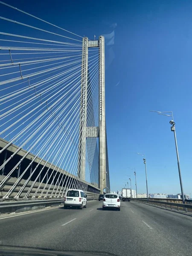
M 157 110 L 174 113 L 183 189 L 192 193 L 192 1 L 4 1 L 89 39 L 106 35 L 111 190 L 125 186 L 125 175 L 134 187 L 131 167 L 138 192 L 146 192 L 143 157 L 134 153 L 145 152 L 148 192 L 180 193 L 170 118 L 149 112 Z M 15 18 L 2 5 L 0 13 Z

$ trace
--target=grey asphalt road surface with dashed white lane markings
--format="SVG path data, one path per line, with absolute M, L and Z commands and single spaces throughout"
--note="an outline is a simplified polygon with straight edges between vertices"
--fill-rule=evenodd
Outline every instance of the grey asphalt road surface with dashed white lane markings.
M 82 210 L 56 208 L 0 218 L 2 248 L 118 256 L 192 255 L 191 216 L 136 202 L 121 202 L 120 212 L 102 211 L 102 201 L 91 201 Z

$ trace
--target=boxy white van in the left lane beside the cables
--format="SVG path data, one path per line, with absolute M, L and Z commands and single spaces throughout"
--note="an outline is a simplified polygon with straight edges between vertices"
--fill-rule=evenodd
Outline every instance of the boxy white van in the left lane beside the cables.
M 78 207 L 80 209 L 87 207 L 87 195 L 84 194 L 83 190 L 67 190 L 64 197 L 64 209 L 67 209 L 67 207 Z

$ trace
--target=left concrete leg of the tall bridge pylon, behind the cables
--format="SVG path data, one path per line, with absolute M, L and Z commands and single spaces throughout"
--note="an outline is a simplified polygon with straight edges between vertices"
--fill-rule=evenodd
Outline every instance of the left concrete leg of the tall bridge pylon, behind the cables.
M 81 107 L 79 128 L 78 177 L 85 180 L 86 131 L 87 131 L 87 76 L 88 76 L 88 38 L 83 38 L 81 67 Z

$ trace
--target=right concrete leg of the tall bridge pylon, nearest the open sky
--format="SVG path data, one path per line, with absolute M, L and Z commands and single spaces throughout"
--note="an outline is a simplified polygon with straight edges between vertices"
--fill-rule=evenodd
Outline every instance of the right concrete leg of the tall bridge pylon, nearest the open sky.
M 106 187 L 105 39 L 99 37 L 99 189 Z

